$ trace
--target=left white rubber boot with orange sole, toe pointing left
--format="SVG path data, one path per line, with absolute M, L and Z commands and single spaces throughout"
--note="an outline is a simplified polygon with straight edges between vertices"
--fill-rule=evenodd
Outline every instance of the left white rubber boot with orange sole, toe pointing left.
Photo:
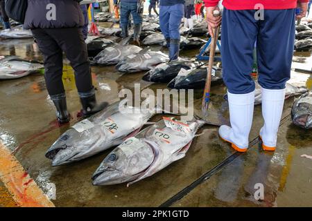
M 239 152 L 248 149 L 249 133 L 254 115 L 254 91 L 248 94 L 236 95 L 227 92 L 229 101 L 229 119 L 231 126 L 220 126 L 220 137 L 232 144 Z

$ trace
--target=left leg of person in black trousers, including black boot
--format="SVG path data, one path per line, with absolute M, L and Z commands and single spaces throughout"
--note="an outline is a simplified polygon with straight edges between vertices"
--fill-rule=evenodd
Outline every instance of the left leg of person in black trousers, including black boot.
M 57 42 L 45 30 L 32 30 L 37 45 L 44 56 L 44 79 L 46 89 L 56 108 L 58 122 L 69 122 L 66 95 L 62 82 L 63 55 Z

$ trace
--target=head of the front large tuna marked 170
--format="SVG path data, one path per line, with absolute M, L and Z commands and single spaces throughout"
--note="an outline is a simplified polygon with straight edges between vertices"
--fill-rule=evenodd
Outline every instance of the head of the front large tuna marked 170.
M 94 185 L 121 184 L 136 180 L 153 163 L 153 149 L 130 137 L 107 155 L 92 176 Z

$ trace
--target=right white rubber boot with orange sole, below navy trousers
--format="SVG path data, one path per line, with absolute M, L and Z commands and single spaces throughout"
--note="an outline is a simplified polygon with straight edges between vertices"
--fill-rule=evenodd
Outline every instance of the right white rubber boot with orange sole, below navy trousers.
M 260 129 L 262 148 L 265 151 L 275 151 L 277 144 L 277 132 L 281 114 L 283 113 L 285 89 L 269 90 L 261 88 L 262 116 L 264 125 Z

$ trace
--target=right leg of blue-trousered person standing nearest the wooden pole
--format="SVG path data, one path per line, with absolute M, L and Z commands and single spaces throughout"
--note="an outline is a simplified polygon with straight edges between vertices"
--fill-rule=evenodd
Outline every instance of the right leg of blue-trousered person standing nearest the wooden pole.
M 169 18 L 169 36 L 170 36 L 170 48 L 169 58 L 171 61 L 176 60 L 179 57 L 180 52 L 180 24 L 184 17 L 184 5 L 175 4 L 170 7 Z

